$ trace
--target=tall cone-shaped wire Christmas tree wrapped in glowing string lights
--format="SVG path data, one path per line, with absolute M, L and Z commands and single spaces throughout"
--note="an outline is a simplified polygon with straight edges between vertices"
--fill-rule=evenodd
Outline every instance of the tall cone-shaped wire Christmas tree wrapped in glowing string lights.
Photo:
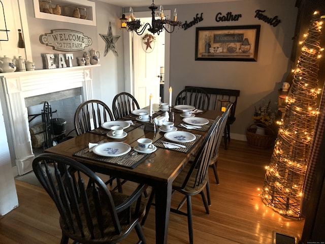
M 261 194 L 264 204 L 293 218 L 301 217 L 300 200 L 317 116 L 321 24 L 320 15 L 315 12 L 294 71 Z

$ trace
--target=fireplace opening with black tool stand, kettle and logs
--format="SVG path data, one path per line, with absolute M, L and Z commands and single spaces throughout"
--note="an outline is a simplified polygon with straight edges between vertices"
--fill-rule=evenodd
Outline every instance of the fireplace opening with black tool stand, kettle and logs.
M 72 95 L 75 95 L 75 91 Z M 40 100 L 44 99 L 42 96 L 28 98 L 27 101 L 29 104 L 30 99 L 39 103 L 27 107 L 29 133 L 35 157 L 42 154 L 44 149 L 76 136 L 74 114 L 82 102 L 81 94 L 59 100 L 53 100 L 57 98 L 55 93 L 47 94 L 46 98 L 51 101 L 40 103 Z M 71 93 L 67 96 L 71 96 Z

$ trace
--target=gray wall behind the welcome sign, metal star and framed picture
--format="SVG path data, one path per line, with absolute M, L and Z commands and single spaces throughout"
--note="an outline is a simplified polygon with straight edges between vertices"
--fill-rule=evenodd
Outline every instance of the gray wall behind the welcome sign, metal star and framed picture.
M 40 44 L 39 36 L 51 29 L 74 29 L 92 38 L 93 48 L 101 52 L 101 67 L 94 71 L 94 98 L 111 105 L 113 97 L 124 90 L 123 35 L 119 29 L 120 7 L 96 2 L 97 26 L 71 24 L 34 18 L 34 10 L 25 0 L 27 7 L 33 61 L 36 67 L 42 67 L 41 53 L 55 53 L 50 47 Z M 27 3 L 28 2 L 28 3 Z M 240 98 L 236 109 L 236 121 L 232 126 L 233 138 L 245 140 L 246 129 L 253 123 L 254 105 L 272 101 L 276 108 L 277 89 L 290 71 L 290 52 L 297 18 L 296 0 L 243 0 L 227 3 L 190 4 L 164 6 L 178 10 L 178 20 L 191 21 L 197 13 L 203 13 L 204 20 L 192 27 L 171 34 L 170 84 L 173 87 L 173 101 L 185 85 L 239 89 Z M 150 3 L 148 3 L 149 6 Z M 269 17 L 278 16 L 281 23 L 276 27 L 254 18 L 255 10 L 266 10 Z M 134 8 L 134 11 L 147 11 L 147 7 Z M 242 14 L 239 21 L 216 22 L 215 15 Z M 116 43 L 118 56 L 110 51 L 104 57 L 105 42 L 99 34 L 107 34 L 111 22 L 113 34 L 121 36 Z M 226 25 L 261 25 L 257 62 L 196 61 L 194 60 L 196 27 Z M 35 27 L 37 26 L 37 27 Z M 83 52 L 74 52 L 74 57 Z

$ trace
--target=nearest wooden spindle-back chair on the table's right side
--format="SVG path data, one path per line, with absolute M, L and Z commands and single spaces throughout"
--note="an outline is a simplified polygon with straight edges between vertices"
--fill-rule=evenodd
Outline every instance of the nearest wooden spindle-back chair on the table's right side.
M 208 182 L 208 168 L 209 162 L 211 158 L 211 150 L 213 148 L 213 141 L 215 137 L 215 133 L 218 131 L 218 127 L 220 126 L 221 117 L 218 116 L 214 123 L 212 124 L 207 136 L 202 142 L 200 148 L 197 151 L 197 155 L 192 163 L 188 163 L 184 166 L 182 171 L 173 181 L 173 191 L 178 191 L 183 194 L 185 197 L 177 208 L 171 208 L 170 211 L 179 215 L 187 216 L 187 224 L 188 224 L 188 236 L 189 243 L 193 243 L 193 227 L 192 227 L 192 207 L 191 207 L 191 196 L 200 194 L 205 206 L 205 210 L 207 214 L 210 213 L 208 202 L 204 193 L 204 189 L 206 188 Z M 142 219 L 141 224 L 144 225 L 146 218 L 149 214 L 150 206 L 154 205 L 152 203 L 153 197 L 155 194 L 155 189 L 152 188 L 150 197 L 148 199 L 147 207 L 146 207 L 146 215 Z M 187 203 L 187 212 L 183 212 L 180 210 L 183 203 L 186 201 Z

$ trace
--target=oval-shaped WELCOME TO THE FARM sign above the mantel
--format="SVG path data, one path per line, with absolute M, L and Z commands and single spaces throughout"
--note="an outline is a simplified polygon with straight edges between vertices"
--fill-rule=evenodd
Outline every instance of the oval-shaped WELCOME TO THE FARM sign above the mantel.
M 80 51 L 92 44 L 92 40 L 72 29 L 52 29 L 51 33 L 40 36 L 40 42 L 59 51 Z

